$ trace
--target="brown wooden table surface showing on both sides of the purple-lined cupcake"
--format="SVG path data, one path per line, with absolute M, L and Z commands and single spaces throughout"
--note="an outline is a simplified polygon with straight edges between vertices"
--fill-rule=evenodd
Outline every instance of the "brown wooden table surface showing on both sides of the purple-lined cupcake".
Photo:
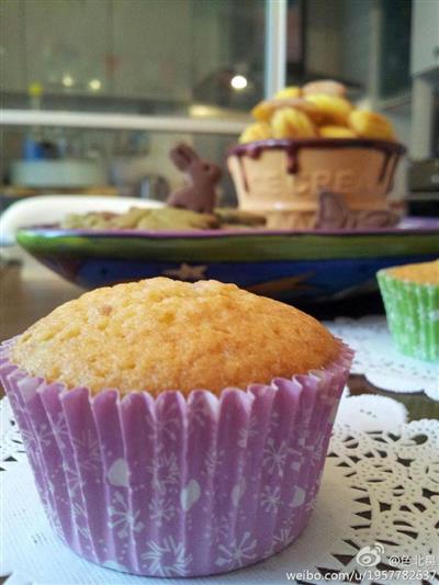
M 0 340 L 22 333 L 54 307 L 82 292 L 79 286 L 64 281 L 29 258 L 22 265 L 0 268 Z M 439 419 L 439 403 L 430 401 L 423 393 L 386 393 L 372 386 L 362 375 L 351 375 L 349 389 L 356 395 L 381 394 L 398 400 L 406 406 L 410 419 Z M 0 584 L 3 582 L 4 577 L 0 577 Z

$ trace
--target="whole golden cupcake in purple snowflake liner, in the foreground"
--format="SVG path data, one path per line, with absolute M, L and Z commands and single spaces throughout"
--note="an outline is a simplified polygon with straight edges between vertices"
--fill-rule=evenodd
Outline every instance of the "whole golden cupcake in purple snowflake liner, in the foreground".
M 211 575 L 312 513 L 352 353 L 233 284 L 157 278 L 66 303 L 1 348 L 40 496 L 81 556 Z

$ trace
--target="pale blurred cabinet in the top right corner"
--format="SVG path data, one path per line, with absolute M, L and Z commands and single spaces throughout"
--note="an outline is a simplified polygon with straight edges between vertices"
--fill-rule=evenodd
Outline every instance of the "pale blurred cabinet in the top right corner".
M 439 67 L 439 2 L 414 0 L 412 25 L 412 75 Z

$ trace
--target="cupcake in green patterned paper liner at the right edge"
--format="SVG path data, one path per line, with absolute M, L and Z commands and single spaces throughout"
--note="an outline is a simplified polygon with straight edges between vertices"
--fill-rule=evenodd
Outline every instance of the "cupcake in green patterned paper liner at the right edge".
M 439 260 L 380 270 L 376 274 L 389 328 L 399 351 L 439 360 Z

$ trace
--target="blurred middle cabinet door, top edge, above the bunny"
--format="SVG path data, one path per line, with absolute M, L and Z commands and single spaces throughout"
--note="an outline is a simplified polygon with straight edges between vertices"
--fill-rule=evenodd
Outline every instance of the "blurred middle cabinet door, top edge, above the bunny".
M 124 0 L 112 7 L 114 93 L 191 100 L 191 0 Z

